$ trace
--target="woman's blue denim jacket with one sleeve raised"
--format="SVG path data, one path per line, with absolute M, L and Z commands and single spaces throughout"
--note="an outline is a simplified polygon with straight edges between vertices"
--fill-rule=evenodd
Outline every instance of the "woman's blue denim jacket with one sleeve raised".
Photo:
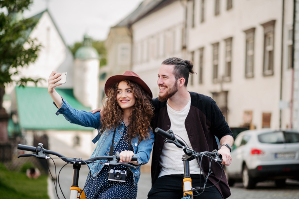
M 56 106 L 56 104 L 54 103 Z M 57 106 L 56 106 L 57 107 Z M 92 140 L 93 143 L 97 142 L 96 149 L 92 153 L 90 158 L 96 156 L 109 156 L 110 146 L 113 138 L 114 127 L 110 130 L 106 129 L 102 134 L 100 134 L 101 128 L 101 115 L 100 112 L 96 112 L 95 114 L 92 112 L 86 112 L 84 110 L 77 110 L 73 108 L 70 104 L 67 103 L 66 100 L 63 99 L 62 106 L 57 110 L 56 115 L 63 114 L 66 120 L 70 123 L 79 124 L 85 127 L 92 127 L 98 129 L 98 135 Z M 116 133 L 114 138 L 113 146 L 114 148 L 117 146 L 120 141 L 125 124 L 121 122 L 120 125 L 116 127 Z M 154 134 L 150 130 L 149 138 L 138 143 L 137 138 L 132 139 L 132 146 L 134 149 L 135 156 L 138 157 L 138 164 L 136 166 L 137 169 L 129 168 L 133 172 L 134 176 L 134 185 L 136 185 L 140 178 L 140 168 L 142 164 L 147 164 L 149 162 L 150 152 L 152 149 L 152 143 L 154 141 Z M 96 162 L 105 163 L 107 160 L 97 160 Z M 104 167 L 104 164 L 91 163 L 89 164 L 91 174 L 96 177 L 98 173 Z

